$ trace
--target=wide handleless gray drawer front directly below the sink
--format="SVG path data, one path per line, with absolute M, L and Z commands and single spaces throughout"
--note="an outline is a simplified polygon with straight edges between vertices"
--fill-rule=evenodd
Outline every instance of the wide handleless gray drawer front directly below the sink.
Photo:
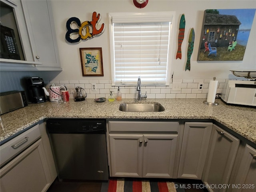
M 126 132 L 178 132 L 179 122 L 174 121 L 109 121 L 109 131 L 126 131 Z

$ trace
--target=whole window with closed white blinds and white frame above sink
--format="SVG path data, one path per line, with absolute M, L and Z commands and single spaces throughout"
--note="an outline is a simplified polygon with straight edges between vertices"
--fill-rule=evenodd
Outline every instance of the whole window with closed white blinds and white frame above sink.
M 174 12 L 110 13 L 112 85 L 168 85 Z

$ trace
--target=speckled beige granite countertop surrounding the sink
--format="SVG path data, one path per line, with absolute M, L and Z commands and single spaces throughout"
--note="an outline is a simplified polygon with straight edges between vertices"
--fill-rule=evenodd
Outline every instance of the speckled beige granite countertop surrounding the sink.
M 0 142 L 45 118 L 116 118 L 116 119 L 212 119 L 256 143 L 256 108 L 226 105 L 216 99 L 218 106 L 204 104 L 205 99 L 146 99 L 141 102 L 158 102 L 163 112 L 122 112 L 123 102 L 138 102 L 122 99 L 114 102 L 82 102 L 70 100 L 66 103 L 44 102 L 28 104 L 13 112 L 1 115 Z

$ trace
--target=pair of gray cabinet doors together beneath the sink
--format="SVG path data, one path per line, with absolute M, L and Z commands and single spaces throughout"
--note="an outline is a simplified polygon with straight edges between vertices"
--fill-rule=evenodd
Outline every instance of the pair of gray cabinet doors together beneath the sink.
M 110 134 L 112 176 L 172 178 L 178 135 Z

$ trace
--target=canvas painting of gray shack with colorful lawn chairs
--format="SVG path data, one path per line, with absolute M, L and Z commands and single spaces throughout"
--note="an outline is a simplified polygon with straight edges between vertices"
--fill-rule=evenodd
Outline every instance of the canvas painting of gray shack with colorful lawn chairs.
M 198 61 L 241 61 L 255 9 L 205 10 Z

